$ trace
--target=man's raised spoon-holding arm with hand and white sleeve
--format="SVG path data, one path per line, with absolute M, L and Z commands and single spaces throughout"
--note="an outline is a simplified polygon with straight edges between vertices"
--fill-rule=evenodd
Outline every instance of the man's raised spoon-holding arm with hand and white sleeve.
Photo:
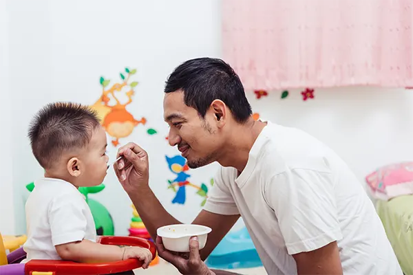
M 116 157 L 120 155 L 123 155 L 123 158 L 114 164 L 116 176 L 134 203 L 152 239 L 155 240 L 158 228 L 170 224 L 179 224 L 180 221 L 172 217 L 163 208 L 151 188 L 149 188 L 149 162 L 146 151 L 134 143 L 129 143 L 119 149 Z M 193 223 L 206 225 L 212 229 L 206 247 L 202 250 L 202 259 L 207 258 L 240 217 L 240 212 L 235 201 L 233 201 L 231 193 L 225 187 L 222 175 L 221 169 L 218 177 L 215 178 L 215 185 L 208 194 L 209 198 L 204 207 L 209 211 L 202 210 L 193 221 Z M 219 187 L 220 185 L 222 187 Z

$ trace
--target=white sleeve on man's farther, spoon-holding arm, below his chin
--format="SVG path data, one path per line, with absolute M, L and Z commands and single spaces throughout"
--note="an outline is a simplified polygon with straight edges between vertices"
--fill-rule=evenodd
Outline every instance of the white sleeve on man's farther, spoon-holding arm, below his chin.
M 240 214 L 227 186 L 229 183 L 225 182 L 225 180 L 229 181 L 231 177 L 224 175 L 224 173 L 224 169 L 221 167 L 215 175 L 214 184 L 208 193 L 209 197 L 204 205 L 204 210 L 224 215 Z

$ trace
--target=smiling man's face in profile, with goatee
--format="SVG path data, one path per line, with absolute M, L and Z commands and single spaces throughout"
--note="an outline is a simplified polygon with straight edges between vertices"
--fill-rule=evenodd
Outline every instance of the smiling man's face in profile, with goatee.
M 205 118 L 200 118 L 198 111 L 184 103 L 184 93 L 174 91 L 165 94 L 164 119 L 170 127 L 169 144 L 178 145 L 190 168 L 216 160 L 222 139 L 219 138 L 213 111 L 207 111 Z

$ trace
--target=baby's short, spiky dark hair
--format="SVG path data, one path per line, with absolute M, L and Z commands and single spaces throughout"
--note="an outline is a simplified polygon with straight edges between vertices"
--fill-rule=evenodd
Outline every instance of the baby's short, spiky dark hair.
M 43 168 L 51 168 L 62 153 L 87 146 L 99 125 L 96 112 L 87 106 L 73 102 L 47 104 L 30 124 L 33 155 Z

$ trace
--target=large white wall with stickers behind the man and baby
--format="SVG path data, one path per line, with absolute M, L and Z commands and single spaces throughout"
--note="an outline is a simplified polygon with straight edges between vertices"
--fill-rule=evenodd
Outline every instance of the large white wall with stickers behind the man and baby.
M 172 156 L 177 150 L 165 140 L 168 129 L 162 119 L 162 90 L 168 74 L 181 62 L 198 56 L 221 57 L 220 1 L 22 0 L 8 1 L 8 8 L 10 100 L 5 102 L 10 102 L 12 115 L 2 118 L 12 124 L 12 135 L 6 137 L 12 136 L 12 142 L 6 141 L 9 146 L 3 147 L 6 155 L 12 153 L 15 232 L 25 231 L 23 206 L 28 192 L 24 186 L 42 175 L 26 137 L 33 113 L 54 100 L 92 104 L 100 96 L 100 76 L 117 80 L 125 66 L 138 69 L 135 79 L 140 83 L 129 111 L 138 119 L 145 116 L 148 122 L 120 142 L 134 140 L 147 149 L 156 195 L 178 219 L 191 221 L 202 199 L 188 188 L 187 205 L 172 205 L 173 192 L 167 190 L 167 179 L 173 179 L 173 174 L 165 154 Z M 257 100 L 248 91 L 248 98 L 263 118 L 299 127 L 326 142 L 361 181 L 377 166 L 413 158 L 413 91 L 317 89 L 315 100 L 308 102 L 301 100 L 297 90 L 284 100 L 279 99 L 280 93 L 271 91 Z M 147 135 L 149 127 L 158 135 Z M 109 146 L 112 159 L 115 153 Z M 207 183 L 216 168 L 193 170 L 190 179 L 195 184 Z M 1 195 L 10 200 L 12 185 L 6 183 Z M 126 234 L 130 201 L 112 171 L 105 184 L 107 189 L 94 198 L 111 212 L 116 234 Z M 5 214 L 1 210 L 2 219 L 12 221 L 12 214 Z

